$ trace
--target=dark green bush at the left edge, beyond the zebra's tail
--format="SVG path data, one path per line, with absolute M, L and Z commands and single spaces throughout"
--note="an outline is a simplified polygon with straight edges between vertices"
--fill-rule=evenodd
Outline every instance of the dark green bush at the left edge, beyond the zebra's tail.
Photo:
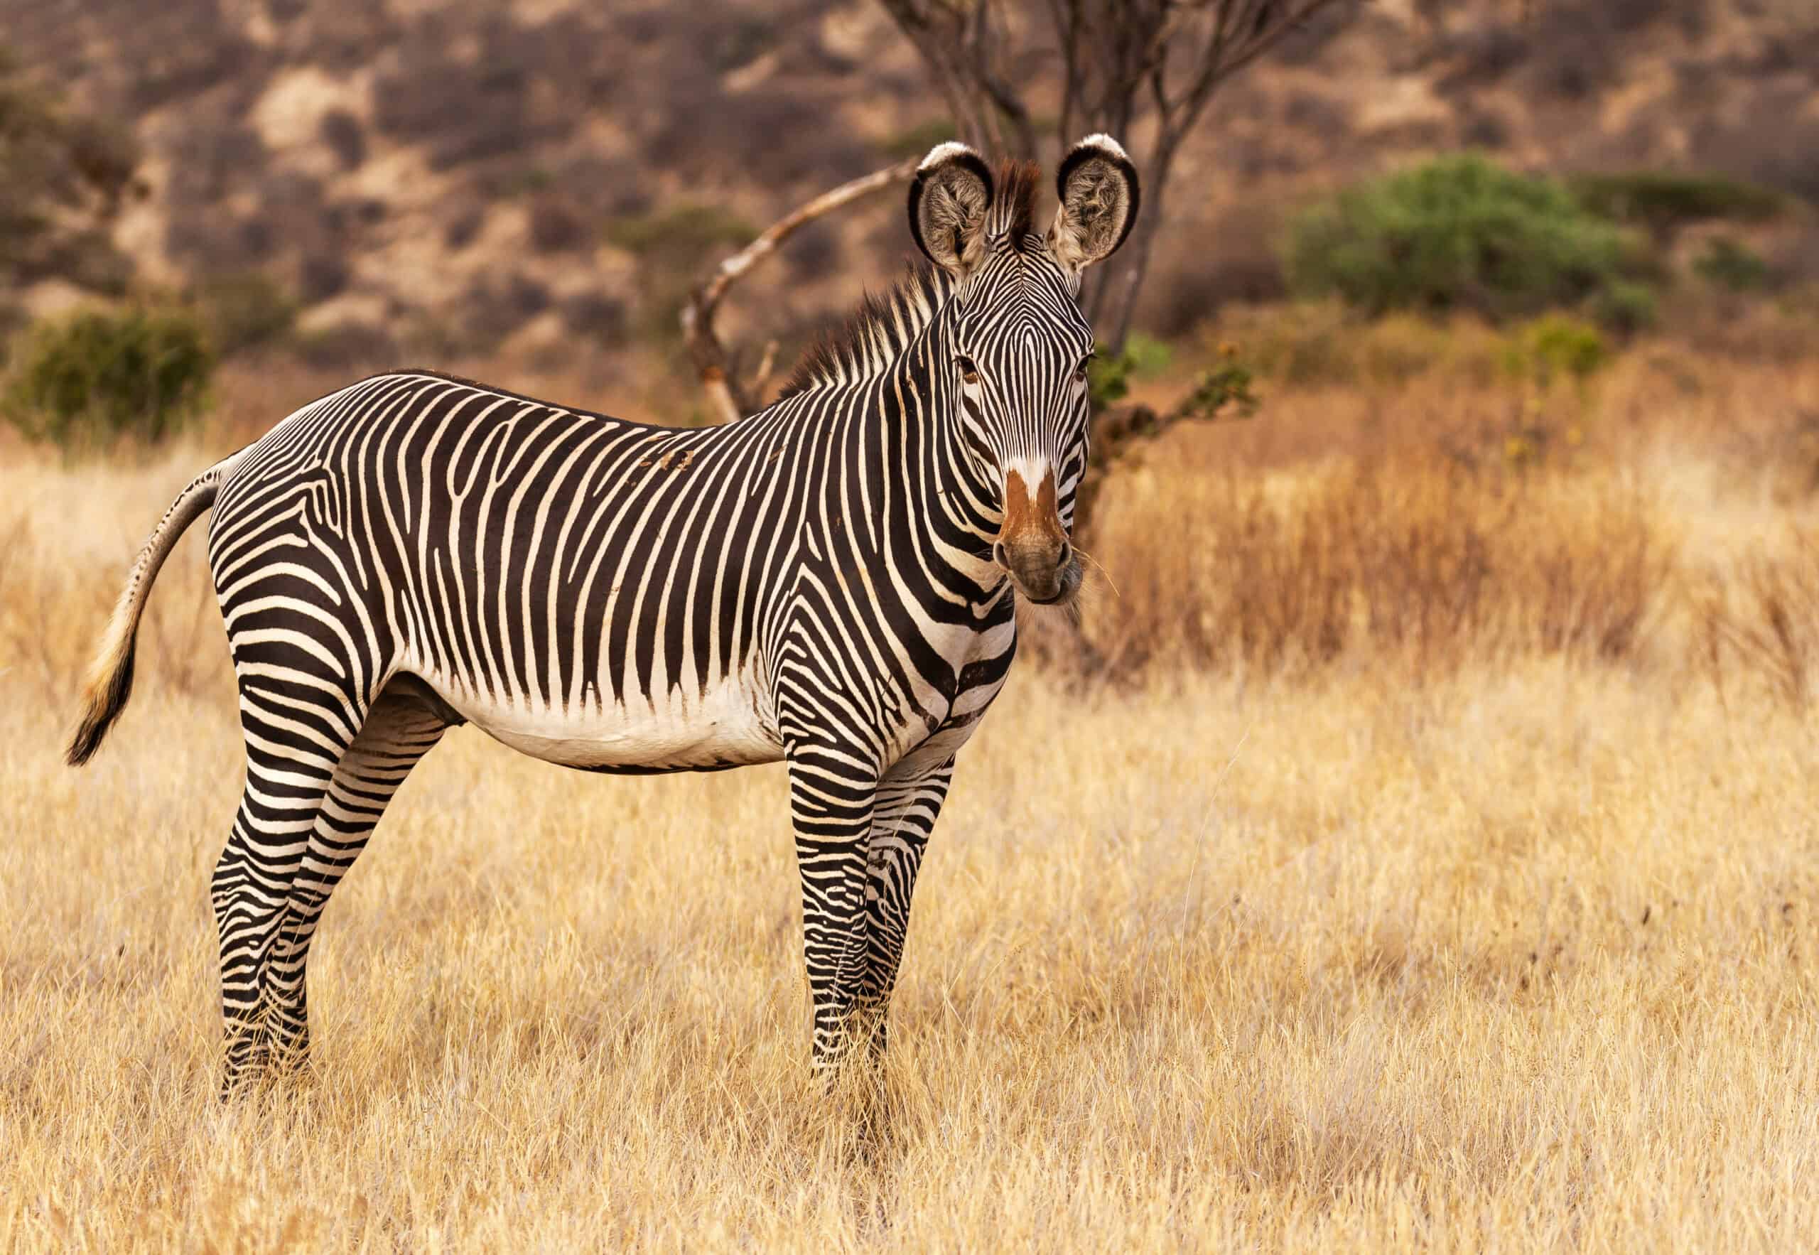
M 202 409 L 215 353 L 184 309 L 87 309 L 33 326 L 13 355 L 5 417 L 65 451 L 155 444 Z

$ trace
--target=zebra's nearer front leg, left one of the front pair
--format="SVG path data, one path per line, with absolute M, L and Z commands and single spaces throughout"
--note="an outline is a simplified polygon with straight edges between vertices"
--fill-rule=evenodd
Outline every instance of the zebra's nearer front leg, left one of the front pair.
M 802 957 L 815 1002 L 815 1071 L 851 1042 L 848 1020 L 866 971 L 866 842 L 877 775 L 835 749 L 791 749 L 789 817 L 802 878 Z

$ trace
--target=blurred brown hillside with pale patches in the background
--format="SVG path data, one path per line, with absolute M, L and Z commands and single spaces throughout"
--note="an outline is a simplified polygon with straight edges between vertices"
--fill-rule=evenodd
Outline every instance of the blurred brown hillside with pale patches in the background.
M 944 135 L 869 0 L 9 9 L 31 75 L 140 144 L 140 195 L 113 227 L 140 282 L 267 275 L 324 356 L 555 362 L 662 342 L 717 255 Z M 1810 9 L 1379 0 L 1352 27 L 1308 29 L 1228 84 L 1177 167 L 1141 322 L 1177 335 L 1281 295 L 1288 207 L 1435 151 L 1713 169 L 1819 200 Z M 1042 82 L 1055 65 L 1024 69 Z M 1781 273 L 1819 278 L 1810 226 L 1768 244 Z M 744 331 L 788 347 L 910 247 L 897 196 L 819 224 L 735 296 L 729 331 L 753 318 Z M 56 278 L 27 293 L 35 313 L 76 298 Z

